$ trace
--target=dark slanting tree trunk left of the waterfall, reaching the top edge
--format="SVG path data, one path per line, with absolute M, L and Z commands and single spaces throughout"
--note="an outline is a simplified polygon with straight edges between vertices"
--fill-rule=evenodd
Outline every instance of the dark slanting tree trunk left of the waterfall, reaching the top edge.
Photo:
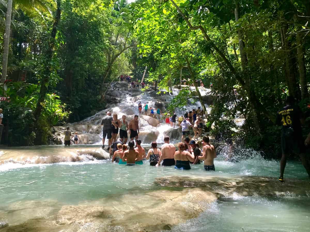
M 52 60 L 53 58 L 53 54 L 54 54 L 54 46 L 55 46 L 55 37 L 56 37 L 56 33 L 57 33 L 57 28 L 58 28 L 58 24 L 60 21 L 60 1 L 61 0 L 57 0 L 57 10 L 56 10 L 56 15 L 55 15 L 55 19 L 54 19 L 54 23 L 53 23 L 53 27 L 52 27 L 52 31 L 51 31 L 51 37 L 50 37 L 50 41 L 49 41 L 49 48 L 46 51 L 46 60 L 47 60 L 47 64 L 45 67 L 45 70 L 42 74 L 42 79 L 41 79 L 41 88 L 40 88 L 40 93 L 39 93 L 39 98 L 38 98 L 38 102 L 36 105 L 36 109 L 33 113 L 34 118 L 35 118 L 35 124 L 36 126 L 38 126 L 38 121 L 39 118 L 41 116 L 41 112 L 43 109 L 42 103 L 46 97 L 47 94 L 47 87 L 48 87 L 48 82 L 49 82 L 49 77 L 51 75 L 51 67 L 49 65 L 49 62 Z M 37 139 L 41 139 L 41 138 L 37 138 Z

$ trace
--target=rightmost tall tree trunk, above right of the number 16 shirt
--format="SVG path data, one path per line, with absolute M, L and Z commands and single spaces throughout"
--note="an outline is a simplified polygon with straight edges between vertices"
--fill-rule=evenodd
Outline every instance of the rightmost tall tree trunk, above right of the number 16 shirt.
M 301 99 L 305 99 L 305 98 L 308 98 L 306 65 L 305 65 L 305 55 L 304 55 L 304 48 L 303 48 L 303 37 L 300 32 L 302 28 L 298 25 L 297 15 L 294 15 L 294 22 L 295 22 L 295 27 L 297 28 L 296 42 L 297 42 L 297 59 L 298 59 L 298 67 L 299 67 L 299 78 L 300 78 L 300 86 L 301 86 Z

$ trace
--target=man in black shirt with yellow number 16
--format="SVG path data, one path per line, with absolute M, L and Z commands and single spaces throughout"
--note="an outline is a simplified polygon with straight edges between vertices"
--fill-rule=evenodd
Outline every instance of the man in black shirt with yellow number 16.
M 279 181 L 283 182 L 283 174 L 286 166 L 287 156 L 290 153 L 298 153 L 303 166 L 307 170 L 310 177 L 310 165 L 306 159 L 304 152 L 304 144 L 301 133 L 302 114 L 300 108 L 294 104 L 294 98 L 286 98 L 286 106 L 280 109 L 277 113 L 276 122 L 282 126 L 281 132 L 281 148 L 282 158 L 280 163 Z

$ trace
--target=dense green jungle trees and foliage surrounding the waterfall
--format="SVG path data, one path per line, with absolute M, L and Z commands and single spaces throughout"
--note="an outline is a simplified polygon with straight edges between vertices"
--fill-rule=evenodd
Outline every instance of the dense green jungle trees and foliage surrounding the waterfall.
M 1 13 L 2 143 L 44 144 L 51 126 L 104 109 L 108 85 L 145 67 L 166 91 L 212 83 L 207 118 L 222 140 L 277 153 L 285 97 L 308 116 L 308 0 L 8 0 Z M 183 88 L 167 111 L 189 96 Z M 237 111 L 246 123 L 234 132 Z

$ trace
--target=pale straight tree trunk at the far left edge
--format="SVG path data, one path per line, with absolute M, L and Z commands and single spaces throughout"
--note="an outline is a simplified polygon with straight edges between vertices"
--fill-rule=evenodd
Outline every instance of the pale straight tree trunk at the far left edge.
M 6 79 L 7 79 L 7 60 L 8 60 L 8 57 L 9 57 L 12 2 L 13 2 L 13 0 L 8 0 L 7 1 L 7 17 L 6 17 L 6 20 L 5 20 L 5 34 L 4 34 L 4 45 L 3 45 L 1 83 L 4 83 L 6 81 Z

